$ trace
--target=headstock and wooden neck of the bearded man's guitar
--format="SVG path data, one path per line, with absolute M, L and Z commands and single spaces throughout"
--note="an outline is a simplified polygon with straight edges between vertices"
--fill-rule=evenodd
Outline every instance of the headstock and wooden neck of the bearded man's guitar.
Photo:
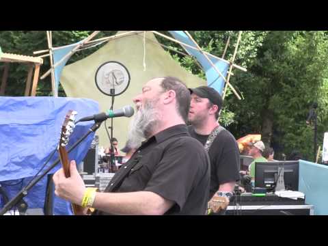
M 74 128 L 75 115 L 77 115 L 77 112 L 72 110 L 68 111 L 68 113 L 66 114 L 64 124 L 61 127 L 61 136 L 59 140 L 59 158 L 61 161 L 61 165 L 64 169 L 66 178 L 70 177 L 70 161 L 68 160 L 68 152 L 66 150 L 66 145 L 68 143 L 68 137 L 70 136 Z M 85 208 L 77 204 L 72 204 L 72 210 L 74 215 L 81 215 Z

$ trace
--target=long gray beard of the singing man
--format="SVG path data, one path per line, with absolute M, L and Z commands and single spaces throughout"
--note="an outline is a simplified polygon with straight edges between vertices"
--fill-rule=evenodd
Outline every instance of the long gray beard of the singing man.
M 128 141 L 131 142 L 131 147 L 137 148 L 141 142 L 152 136 L 159 121 L 161 119 L 161 112 L 154 108 L 157 100 L 147 101 L 143 108 L 140 108 L 130 124 L 130 131 L 128 132 Z

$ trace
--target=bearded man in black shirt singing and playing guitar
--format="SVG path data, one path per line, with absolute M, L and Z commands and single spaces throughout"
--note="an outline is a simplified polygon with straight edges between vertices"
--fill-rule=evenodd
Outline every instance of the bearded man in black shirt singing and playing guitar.
M 187 130 L 188 88 L 174 77 L 160 77 L 148 81 L 133 101 L 137 113 L 129 139 L 146 141 L 105 192 L 86 188 L 72 161 L 70 178 L 63 169 L 54 174 L 55 194 L 84 206 L 81 214 L 92 207 L 94 215 L 204 215 L 210 163 L 202 144 Z

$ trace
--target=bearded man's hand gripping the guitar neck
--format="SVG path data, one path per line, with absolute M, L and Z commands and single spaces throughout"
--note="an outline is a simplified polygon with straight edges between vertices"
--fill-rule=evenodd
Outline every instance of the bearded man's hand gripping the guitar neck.
M 75 161 L 70 162 L 70 177 L 66 178 L 64 169 L 59 169 L 53 175 L 55 194 L 74 204 L 80 205 L 85 193 L 85 184 L 77 171 Z M 87 210 L 87 209 L 86 209 Z

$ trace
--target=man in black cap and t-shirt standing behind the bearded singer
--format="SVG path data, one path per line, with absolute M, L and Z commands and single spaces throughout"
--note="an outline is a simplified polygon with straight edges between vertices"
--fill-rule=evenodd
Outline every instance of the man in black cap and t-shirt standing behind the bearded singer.
M 188 126 L 191 137 L 199 140 L 210 156 L 210 194 L 208 213 L 217 212 L 218 197 L 230 198 L 239 180 L 240 156 L 234 136 L 217 122 L 223 105 L 221 95 L 212 87 L 189 89 L 191 105 Z M 226 199 L 228 203 L 228 200 Z M 226 204 L 228 206 L 228 204 Z M 222 206 L 226 208 L 226 206 Z M 221 208 L 222 208 L 221 207 Z

